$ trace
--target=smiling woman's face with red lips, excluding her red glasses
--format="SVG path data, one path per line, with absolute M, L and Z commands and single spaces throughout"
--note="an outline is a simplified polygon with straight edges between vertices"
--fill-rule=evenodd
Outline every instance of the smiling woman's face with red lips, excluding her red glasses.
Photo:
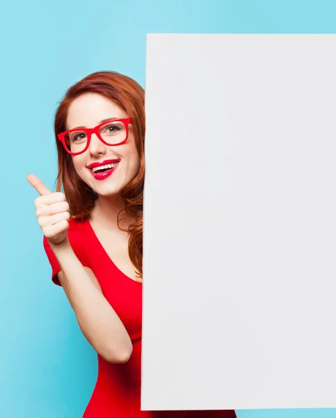
M 75 127 L 95 127 L 110 118 L 127 117 L 126 112 L 111 100 L 97 93 L 85 93 L 70 104 L 67 112 L 67 130 Z M 96 134 L 92 134 L 88 149 L 84 153 L 73 155 L 72 161 L 81 180 L 97 194 L 100 196 L 119 194 L 136 176 L 140 164 L 132 125 L 129 124 L 128 140 L 125 144 L 118 146 L 107 146 L 99 140 Z M 109 171 L 112 171 L 109 176 L 104 177 L 102 175 L 104 171 L 100 171 L 99 174 L 99 171 L 94 173 L 93 169 L 88 168 L 95 162 L 111 162 L 112 167 L 117 165 L 113 171 Z

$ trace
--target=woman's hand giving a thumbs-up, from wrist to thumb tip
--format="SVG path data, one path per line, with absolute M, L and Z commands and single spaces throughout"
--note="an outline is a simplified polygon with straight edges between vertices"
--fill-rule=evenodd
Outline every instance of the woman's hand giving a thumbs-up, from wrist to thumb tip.
M 70 219 L 70 206 L 65 200 L 65 194 L 50 192 L 42 181 L 33 174 L 29 174 L 26 178 L 40 194 L 35 199 L 35 209 L 38 224 L 45 238 L 51 244 L 62 244 L 67 240 L 68 220 Z

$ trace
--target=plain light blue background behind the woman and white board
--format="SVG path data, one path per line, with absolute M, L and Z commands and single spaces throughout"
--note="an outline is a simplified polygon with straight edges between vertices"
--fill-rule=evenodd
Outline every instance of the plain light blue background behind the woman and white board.
M 67 87 L 97 70 L 145 86 L 146 33 L 335 33 L 336 2 L 58 0 L 2 4 L 0 417 L 81 417 L 96 353 L 51 269 L 35 219 L 34 173 L 56 179 L 53 118 Z M 196 366 L 196 365 L 195 365 Z M 290 376 L 289 376 L 290 378 Z M 243 410 L 239 418 L 328 418 L 327 410 Z

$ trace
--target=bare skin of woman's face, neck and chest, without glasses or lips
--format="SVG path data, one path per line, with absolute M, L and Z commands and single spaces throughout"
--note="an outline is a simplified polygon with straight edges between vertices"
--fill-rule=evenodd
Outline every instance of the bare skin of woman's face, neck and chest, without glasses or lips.
M 128 115 L 117 104 L 97 93 L 86 93 L 72 102 L 67 114 L 67 129 L 78 126 L 94 127 L 106 118 L 125 118 Z M 104 160 L 120 160 L 117 169 L 104 180 L 96 180 L 87 166 L 93 162 Z M 90 224 L 97 238 L 104 247 L 113 263 L 127 275 L 136 280 L 134 265 L 128 255 L 129 237 L 125 231 L 120 231 L 117 223 L 118 212 L 125 203 L 120 192 L 138 172 L 140 159 L 132 125 L 129 125 L 129 138 L 125 144 L 106 146 L 92 134 L 90 146 L 85 153 L 72 157 L 74 168 L 84 183 L 98 194 L 98 199 L 90 214 Z M 120 226 L 127 227 L 131 219 L 125 212 L 121 215 Z

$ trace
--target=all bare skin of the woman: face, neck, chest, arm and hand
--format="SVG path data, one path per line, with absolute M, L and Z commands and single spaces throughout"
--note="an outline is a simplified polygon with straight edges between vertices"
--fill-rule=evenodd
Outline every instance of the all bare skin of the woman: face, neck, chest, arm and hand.
M 111 100 L 96 93 L 86 93 L 70 105 L 66 124 L 67 129 L 77 126 L 94 127 L 102 119 L 127 116 Z M 88 171 L 88 164 L 110 159 L 120 160 L 117 169 L 108 178 L 96 180 Z M 134 265 L 128 256 L 129 237 L 120 231 L 117 223 L 118 212 L 124 208 L 120 192 L 136 176 L 140 163 L 131 125 L 129 139 L 125 144 L 106 146 L 93 134 L 88 150 L 72 156 L 72 161 L 79 177 L 98 194 L 89 220 L 99 242 L 113 263 L 129 279 L 136 280 Z M 58 279 L 74 309 L 81 331 L 106 361 L 127 362 L 132 352 L 129 334 L 104 297 L 95 274 L 90 268 L 81 265 L 70 245 L 67 236 L 70 213 L 65 194 L 51 192 L 33 174 L 29 174 L 27 180 L 40 194 L 35 199 L 38 224 L 61 265 Z M 120 224 L 127 226 L 129 221 L 125 217 Z

